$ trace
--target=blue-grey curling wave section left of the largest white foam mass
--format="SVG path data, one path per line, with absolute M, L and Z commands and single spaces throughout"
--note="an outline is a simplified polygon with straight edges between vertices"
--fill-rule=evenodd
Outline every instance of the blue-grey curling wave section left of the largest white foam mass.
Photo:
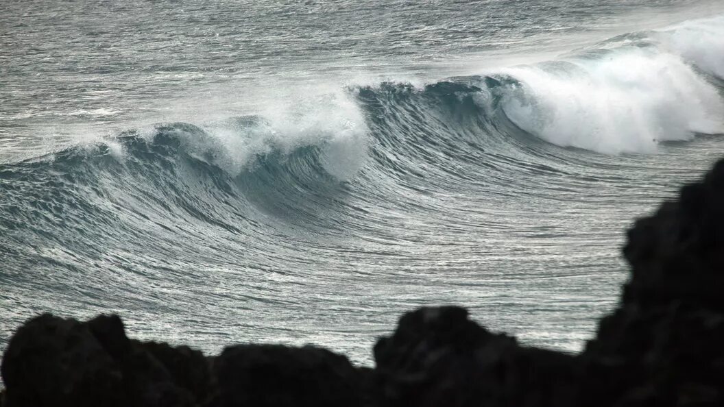
M 259 219 L 334 229 L 350 194 L 396 201 L 481 178 L 515 193 L 517 172 L 536 168 L 536 154 L 555 153 L 542 152 L 547 144 L 521 132 L 483 91 L 455 82 L 356 88 L 364 133 L 282 133 L 263 117 L 237 117 L 156 125 L 0 164 L 0 224 L 74 240 L 72 230 L 82 229 L 98 242 L 138 238 L 147 222 L 172 230 L 193 219 L 243 235 Z

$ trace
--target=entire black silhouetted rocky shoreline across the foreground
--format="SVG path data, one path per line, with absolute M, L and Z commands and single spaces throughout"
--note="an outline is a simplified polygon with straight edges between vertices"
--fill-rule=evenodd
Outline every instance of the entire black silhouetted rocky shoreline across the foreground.
M 458 307 L 404 314 L 374 369 L 323 348 L 219 356 L 129 339 L 118 316 L 28 320 L 1 407 L 724 406 L 724 160 L 628 232 L 620 306 L 578 355 L 518 345 Z

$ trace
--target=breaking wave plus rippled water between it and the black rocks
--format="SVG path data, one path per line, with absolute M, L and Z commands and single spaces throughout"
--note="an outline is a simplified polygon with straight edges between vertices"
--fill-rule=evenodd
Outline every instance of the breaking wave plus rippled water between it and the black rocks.
M 119 311 L 140 337 L 366 361 L 358 332 L 463 303 L 577 348 L 623 279 L 620 230 L 720 154 L 722 38 L 696 20 L 0 164 L 0 336 Z

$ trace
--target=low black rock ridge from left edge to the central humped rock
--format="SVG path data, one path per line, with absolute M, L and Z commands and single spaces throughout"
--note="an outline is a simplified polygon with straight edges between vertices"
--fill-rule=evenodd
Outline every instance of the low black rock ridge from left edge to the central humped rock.
M 306 346 L 238 345 L 215 358 L 126 337 L 117 316 L 44 314 L 3 358 L 9 406 L 362 406 L 369 373 Z

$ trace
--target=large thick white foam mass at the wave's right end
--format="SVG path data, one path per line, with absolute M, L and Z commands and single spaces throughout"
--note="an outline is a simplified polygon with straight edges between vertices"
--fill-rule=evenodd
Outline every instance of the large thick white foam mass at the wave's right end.
M 722 97 L 691 65 L 719 75 L 724 40 L 711 35 L 705 45 L 691 45 L 694 33 L 710 33 L 702 26 L 710 28 L 689 23 L 665 32 L 670 47 L 621 44 L 595 56 L 499 70 L 520 83 L 504 91 L 502 109 L 544 140 L 607 154 L 724 133 Z

